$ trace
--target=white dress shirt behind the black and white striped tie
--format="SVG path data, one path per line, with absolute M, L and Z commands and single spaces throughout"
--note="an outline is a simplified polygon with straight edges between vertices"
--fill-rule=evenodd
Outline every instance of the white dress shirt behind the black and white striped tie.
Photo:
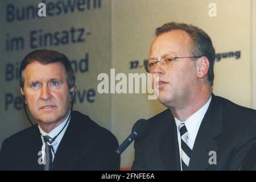
M 180 167 L 181 166 L 181 139 L 180 139 L 180 131 L 179 131 L 179 125 L 180 123 L 185 123 L 185 126 L 188 130 L 188 146 L 193 149 L 195 140 L 196 140 L 196 135 L 198 133 L 199 127 L 201 125 L 201 122 L 203 121 L 204 115 L 207 112 L 207 109 L 210 105 L 210 101 L 212 100 L 212 96 L 210 96 L 209 100 L 207 103 L 201 107 L 199 110 L 196 111 L 196 113 L 192 114 L 187 120 L 181 122 L 179 119 L 175 118 L 175 123 L 177 126 L 177 139 L 179 143 L 179 152 L 180 152 Z

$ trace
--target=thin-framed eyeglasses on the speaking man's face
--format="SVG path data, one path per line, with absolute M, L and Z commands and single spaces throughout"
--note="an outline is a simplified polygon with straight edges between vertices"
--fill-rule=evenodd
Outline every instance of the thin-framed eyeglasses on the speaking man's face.
M 165 55 L 163 56 L 160 61 L 158 60 L 154 60 L 154 59 L 148 59 L 144 62 L 144 64 L 142 65 L 142 67 L 145 68 L 146 72 L 151 73 L 155 67 L 156 67 L 156 63 L 160 63 L 162 65 L 165 65 L 167 68 L 171 68 L 172 65 L 174 65 L 174 61 L 176 61 L 177 59 L 181 59 L 181 58 L 200 58 L 202 56 L 188 56 L 188 57 L 175 57 L 172 55 Z

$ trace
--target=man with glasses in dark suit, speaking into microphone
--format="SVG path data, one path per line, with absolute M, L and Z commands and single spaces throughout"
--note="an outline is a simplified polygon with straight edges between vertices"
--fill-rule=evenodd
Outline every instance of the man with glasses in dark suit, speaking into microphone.
M 171 22 L 156 29 L 144 68 L 168 109 L 135 140 L 133 170 L 240 169 L 256 139 L 256 111 L 214 96 L 214 59 L 200 28 Z

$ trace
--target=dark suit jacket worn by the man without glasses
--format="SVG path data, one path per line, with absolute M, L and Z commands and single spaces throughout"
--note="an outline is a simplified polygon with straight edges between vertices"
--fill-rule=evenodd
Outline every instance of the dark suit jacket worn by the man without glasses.
M 117 139 L 88 116 L 72 111 L 71 121 L 57 148 L 53 170 L 119 170 Z M 38 126 L 7 138 L 0 152 L 0 170 L 42 170 Z

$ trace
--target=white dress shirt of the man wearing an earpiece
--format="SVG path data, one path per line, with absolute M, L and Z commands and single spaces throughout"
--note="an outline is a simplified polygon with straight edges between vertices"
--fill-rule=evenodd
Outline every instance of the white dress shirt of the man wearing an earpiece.
M 69 110 L 69 113 L 68 113 L 67 117 L 65 118 L 65 120 L 62 123 L 60 123 L 60 125 L 57 126 L 55 129 L 50 131 L 50 133 L 44 132 L 40 128 L 40 126 L 38 125 L 40 133 L 42 134 L 41 138 L 42 138 L 42 142 L 43 142 L 43 146 L 42 146 L 42 160 L 43 161 L 45 161 L 44 160 L 44 156 L 45 156 L 45 148 L 46 148 L 46 143 L 44 143 L 43 136 L 48 135 L 49 137 L 54 138 L 63 129 L 63 127 L 65 126 L 65 123 L 68 122 L 67 125 L 65 126 L 65 128 L 61 131 L 61 133 L 57 136 L 57 138 L 52 142 L 52 144 L 49 144 L 49 145 L 51 145 L 53 147 L 53 150 L 54 150 L 54 152 L 52 151 L 52 161 L 53 161 L 53 159 L 55 158 L 55 154 L 56 154 L 57 148 L 59 147 L 60 141 L 63 138 L 63 135 L 65 134 L 65 131 L 67 130 L 69 121 L 71 119 L 71 117 L 69 118 L 70 114 L 71 114 L 71 110 Z

